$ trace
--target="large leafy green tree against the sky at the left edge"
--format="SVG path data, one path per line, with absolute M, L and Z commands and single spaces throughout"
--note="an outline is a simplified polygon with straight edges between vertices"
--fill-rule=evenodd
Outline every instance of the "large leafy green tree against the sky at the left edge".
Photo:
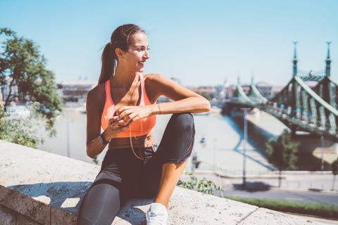
M 8 28 L 0 29 L 1 36 L 5 40 L 0 51 L 0 85 L 9 88 L 4 110 L 11 101 L 31 101 L 36 115 L 44 118 L 46 129 L 54 134 L 54 120 L 61 112 L 54 73 L 46 69 L 46 59 L 32 40 L 18 37 Z M 13 91 L 15 87 L 18 93 Z

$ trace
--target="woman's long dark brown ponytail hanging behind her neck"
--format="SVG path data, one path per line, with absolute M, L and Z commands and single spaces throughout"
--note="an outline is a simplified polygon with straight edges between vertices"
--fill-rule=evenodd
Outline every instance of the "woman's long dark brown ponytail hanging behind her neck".
M 115 70 L 115 58 L 112 52 L 111 42 L 104 46 L 104 51 L 101 56 L 101 74 L 99 77 L 99 84 L 103 84 L 114 74 Z

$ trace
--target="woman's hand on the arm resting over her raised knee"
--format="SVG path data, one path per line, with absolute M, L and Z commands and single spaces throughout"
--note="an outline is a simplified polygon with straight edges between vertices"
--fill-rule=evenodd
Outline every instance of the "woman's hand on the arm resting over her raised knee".
M 123 120 L 125 126 L 145 117 L 149 117 L 154 112 L 154 105 L 144 106 L 122 106 L 115 111 L 118 120 Z

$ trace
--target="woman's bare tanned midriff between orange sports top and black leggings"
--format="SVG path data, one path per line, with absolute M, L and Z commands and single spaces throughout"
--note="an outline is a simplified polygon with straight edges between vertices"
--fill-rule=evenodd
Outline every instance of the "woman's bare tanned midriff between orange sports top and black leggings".
M 144 136 L 132 136 L 131 139 L 129 137 L 111 139 L 108 149 L 131 148 L 130 142 L 132 143 L 133 148 L 151 147 L 156 144 L 153 134 L 150 133 Z

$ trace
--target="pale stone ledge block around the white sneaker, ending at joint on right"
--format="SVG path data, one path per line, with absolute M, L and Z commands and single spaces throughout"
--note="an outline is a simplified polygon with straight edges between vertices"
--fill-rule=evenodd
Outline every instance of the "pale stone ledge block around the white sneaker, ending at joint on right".
M 153 199 L 130 200 L 118 212 L 113 224 L 145 224 L 146 211 L 153 202 Z M 168 205 L 168 225 L 235 225 L 257 209 L 253 205 L 176 187 Z

